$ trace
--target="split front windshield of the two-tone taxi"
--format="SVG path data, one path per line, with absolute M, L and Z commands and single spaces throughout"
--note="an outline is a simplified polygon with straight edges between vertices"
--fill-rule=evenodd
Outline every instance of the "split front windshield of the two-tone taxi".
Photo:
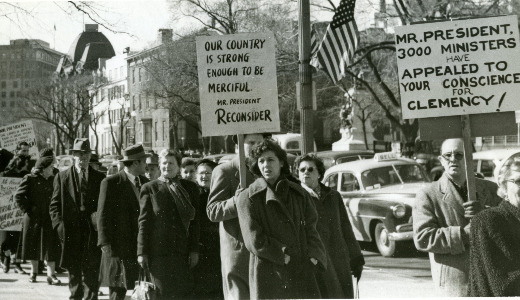
M 371 169 L 361 174 L 361 182 L 366 190 L 387 185 L 428 181 L 417 165 L 391 165 Z

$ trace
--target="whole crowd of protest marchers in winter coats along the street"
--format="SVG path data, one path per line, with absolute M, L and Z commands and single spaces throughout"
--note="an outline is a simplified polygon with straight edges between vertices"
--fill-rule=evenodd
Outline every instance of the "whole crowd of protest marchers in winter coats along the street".
M 63 268 L 70 299 L 97 299 L 100 286 L 124 299 L 139 279 L 158 299 L 353 298 L 365 261 L 342 196 L 321 183 L 323 162 L 302 155 L 291 173 L 270 134 L 245 135 L 244 148 L 242 183 L 238 156 L 193 164 L 133 145 L 106 177 L 88 139 L 61 172 L 52 149 L 37 161 L 26 143 L 0 149 L 2 176 L 22 178 L 24 213 L 21 232 L 0 232 L 4 272 L 29 261 L 36 282 L 45 262 L 59 285 Z M 442 144 L 445 172 L 413 207 L 415 245 L 446 296 L 520 296 L 520 161 L 504 164 L 498 186 L 476 179 L 468 199 L 463 153 L 461 140 Z

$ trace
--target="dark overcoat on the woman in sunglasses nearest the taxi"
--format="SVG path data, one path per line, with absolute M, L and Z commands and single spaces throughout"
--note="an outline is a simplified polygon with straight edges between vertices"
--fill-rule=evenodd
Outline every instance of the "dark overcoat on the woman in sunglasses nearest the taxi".
M 326 286 L 322 297 L 351 299 L 354 298 L 351 268 L 364 265 L 365 260 L 341 195 L 323 184 L 320 188 L 320 199 L 313 199 L 318 212 L 317 230 L 329 259 L 327 270 L 318 273 Z

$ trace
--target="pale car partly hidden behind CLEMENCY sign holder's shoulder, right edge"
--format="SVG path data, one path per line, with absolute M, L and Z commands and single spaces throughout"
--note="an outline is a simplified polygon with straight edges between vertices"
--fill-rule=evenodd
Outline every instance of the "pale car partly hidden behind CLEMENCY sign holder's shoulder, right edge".
M 520 148 L 493 149 L 473 153 L 473 170 L 485 179 L 497 182 L 498 172 L 506 160 L 520 157 Z

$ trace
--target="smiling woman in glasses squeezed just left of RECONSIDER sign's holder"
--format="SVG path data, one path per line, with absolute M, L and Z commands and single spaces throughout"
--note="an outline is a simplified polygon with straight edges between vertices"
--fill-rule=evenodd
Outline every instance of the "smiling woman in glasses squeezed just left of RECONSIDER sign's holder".
M 200 299 L 224 298 L 220 272 L 218 223 L 211 222 L 206 214 L 212 172 L 216 166 L 217 164 L 209 159 L 202 159 L 196 165 L 195 178 L 199 186 L 197 210 L 200 216 L 200 259 L 193 270 L 195 276 L 193 297 Z

